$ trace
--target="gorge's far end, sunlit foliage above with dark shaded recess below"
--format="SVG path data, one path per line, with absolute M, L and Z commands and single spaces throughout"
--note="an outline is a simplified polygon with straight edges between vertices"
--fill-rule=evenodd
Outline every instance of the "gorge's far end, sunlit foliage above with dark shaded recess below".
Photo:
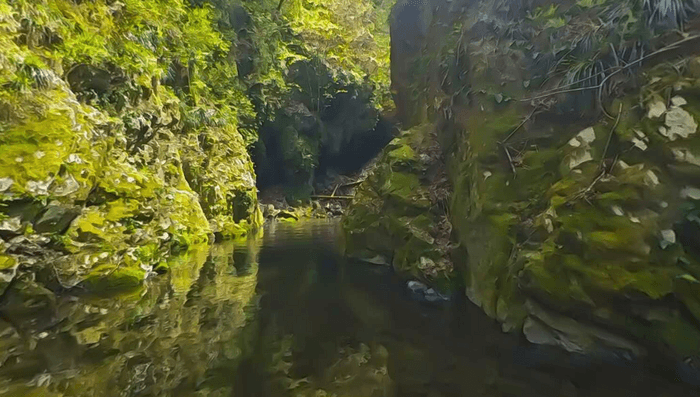
M 308 197 L 324 158 L 371 133 L 390 112 L 392 2 L 241 1 L 218 4 L 235 20 L 237 62 L 260 132 L 252 153 L 261 186 Z M 357 122 L 356 120 L 361 120 Z

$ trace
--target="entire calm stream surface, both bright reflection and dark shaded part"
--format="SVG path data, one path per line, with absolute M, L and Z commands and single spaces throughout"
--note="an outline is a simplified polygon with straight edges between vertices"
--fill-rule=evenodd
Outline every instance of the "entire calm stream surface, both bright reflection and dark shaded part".
M 667 366 L 532 346 L 459 297 L 418 301 L 389 269 L 347 263 L 338 237 L 332 221 L 273 224 L 142 290 L 20 311 L 29 326 L 0 322 L 0 394 L 699 395 Z

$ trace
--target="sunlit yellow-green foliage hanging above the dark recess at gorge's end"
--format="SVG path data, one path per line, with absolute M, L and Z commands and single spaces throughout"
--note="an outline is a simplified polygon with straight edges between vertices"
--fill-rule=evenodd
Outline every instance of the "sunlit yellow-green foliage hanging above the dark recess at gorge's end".
M 335 76 L 348 76 L 350 82 L 369 82 L 376 106 L 393 107 L 389 93 L 388 14 L 393 0 L 288 0 L 277 11 L 278 1 L 242 0 L 234 5 L 213 1 L 223 21 L 236 5 L 248 12 L 250 26 L 237 36 L 239 46 L 252 46 L 254 68 L 244 76 L 248 86 L 258 88 L 260 102 L 272 107 L 258 109 L 269 119 L 281 106 L 281 98 L 295 88 L 287 79 L 291 65 L 320 59 Z M 227 23 L 227 22 L 224 22 Z M 302 87 L 305 89 L 306 87 Z M 276 106 L 275 106 L 276 105 Z

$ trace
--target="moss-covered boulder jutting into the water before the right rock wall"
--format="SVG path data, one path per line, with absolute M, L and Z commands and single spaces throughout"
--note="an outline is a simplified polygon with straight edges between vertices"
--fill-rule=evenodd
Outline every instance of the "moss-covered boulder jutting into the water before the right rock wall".
M 432 126 L 384 150 L 343 220 L 346 253 L 443 289 L 452 286 L 447 181 Z

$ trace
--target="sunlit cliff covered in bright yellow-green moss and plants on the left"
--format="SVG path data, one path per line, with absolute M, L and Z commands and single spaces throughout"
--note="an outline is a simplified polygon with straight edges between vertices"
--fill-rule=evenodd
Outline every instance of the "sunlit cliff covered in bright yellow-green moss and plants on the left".
M 215 20 L 179 1 L 0 5 L 3 291 L 135 286 L 260 224 Z

